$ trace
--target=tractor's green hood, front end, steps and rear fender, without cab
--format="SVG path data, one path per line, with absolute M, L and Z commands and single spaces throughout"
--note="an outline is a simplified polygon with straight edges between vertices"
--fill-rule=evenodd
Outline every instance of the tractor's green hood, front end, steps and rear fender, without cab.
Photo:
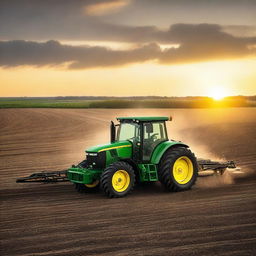
M 185 144 L 177 141 L 165 141 L 161 142 L 152 154 L 150 162 L 134 162 L 132 159 L 132 144 L 130 142 L 116 142 L 106 145 L 101 145 L 99 148 L 103 148 L 99 151 L 92 151 L 97 147 L 89 148 L 86 151 L 88 166 L 71 167 L 68 170 L 68 179 L 74 183 L 91 184 L 95 180 L 99 180 L 100 176 L 109 164 L 117 161 L 125 161 L 136 166 L 139 171 L 139 180 L 144 181 L 158 181 L 157 165 L 164 152 L 174 145 Z

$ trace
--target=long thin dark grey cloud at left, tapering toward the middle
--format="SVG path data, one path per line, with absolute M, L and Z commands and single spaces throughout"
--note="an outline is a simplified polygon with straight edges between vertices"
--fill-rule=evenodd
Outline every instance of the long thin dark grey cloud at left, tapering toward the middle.
M 156 44 L 147 44 L 127 51 L 105 47 L 62 45 L 24 40 L 0 42 L 0 66 L 58 66 L 69 69 L 121 66 L 157 59 L 161 53 Z

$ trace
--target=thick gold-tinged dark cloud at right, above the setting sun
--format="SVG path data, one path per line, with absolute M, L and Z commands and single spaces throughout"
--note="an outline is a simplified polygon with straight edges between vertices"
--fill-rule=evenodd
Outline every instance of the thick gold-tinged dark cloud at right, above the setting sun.
M 177 49 L 163 52 L 162 63 L 188 63 L 243 58 L 254 55 L 250 45 L 256 37 L 235 37 L 216 24 L 175 24 L 162 35 L 164 41 L 179 43 Z

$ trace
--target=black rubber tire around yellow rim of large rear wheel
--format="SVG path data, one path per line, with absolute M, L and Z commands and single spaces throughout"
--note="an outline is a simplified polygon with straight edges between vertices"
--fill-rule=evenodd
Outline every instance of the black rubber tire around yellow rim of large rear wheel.
M 180 184 L 177 182 L 173 174 L 174 163 L 180 157 L 189 158 L 193 166 L 192 177 L 185 184 Z M 168 191 L 178 192 L 190 189 L 195 184 L 198 176 L 198 165 L 195 155 L 185 147 L 175 147 L 173 149 L 169 149 L 160 161 L 158 176 L 160 182 Z

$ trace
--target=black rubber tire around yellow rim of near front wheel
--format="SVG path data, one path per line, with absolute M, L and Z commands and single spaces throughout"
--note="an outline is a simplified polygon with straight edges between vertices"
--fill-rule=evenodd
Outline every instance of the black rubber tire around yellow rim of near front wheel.
M 124 191 L 117 191 L 112 185 L 112 179 L 117 171 L 124 170 L 129 175 L 129 184 Z M 106 196 L 113 197 L 124 197 L 131 193 L 135 184 L 135 173 L 131 165 L 126 162 L 115 162 L 110 164 L 102 173 L 100 179 L 100 186 Z

